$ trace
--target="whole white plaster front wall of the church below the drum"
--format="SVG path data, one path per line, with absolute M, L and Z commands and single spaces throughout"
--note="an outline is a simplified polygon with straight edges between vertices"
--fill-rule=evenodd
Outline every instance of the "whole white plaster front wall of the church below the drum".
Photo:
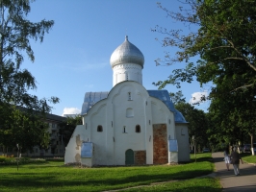
M 128 98 L 128 92 L 131 93 L 131 100 Z M 127 108 L 133 109 L 133 117 L 126 116 Z M 175 132 L 174 115 L 166 105 L 150 97 L 141 84 L 131 81 L 116 84 L 108 98 L 90 108 L 88 114 L 83 117 L 83 122 L 85 125 L 75 129 L 66 147 L 65 163 L 76 162 L 75 156 L 80 156 L 81 147 L 77 148 L 76 141 L 79 134 L 81 140 L 92 142 L 94 145 L 93 165 L 124 165 L 125 152 L 128 149 L 146 151 L 146 163 L 152 164 L 153 124 L 166 124 L 167 136 L 169 135 L 170 139 L 176 139 L 176 132 L 179 130 L 176 129 Z M 98 125 L 103 127 L 103 132 L 97 132 Z M 136 125 L 141 126 L 141 132 L 136 132 Z M 124 126 L 126 132 L 123 132 Z M 178 141 L 179 153 L 183 142 Z M 179 155 L 180 157 L 186 159 L 187 156 Z M 168 158 L 169 162 L 178 161 L 177 153 L 169 153 Z

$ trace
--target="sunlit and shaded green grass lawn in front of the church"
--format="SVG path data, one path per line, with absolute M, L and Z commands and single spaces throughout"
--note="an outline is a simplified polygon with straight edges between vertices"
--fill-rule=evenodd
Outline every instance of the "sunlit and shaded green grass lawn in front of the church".
M 104 191 L 170 181 L 125 191 L 221 191 L 217 179 L 193 179 L 213 172 L 210 153 L 179 165 L 79 168 L 64 161 L 0 165 L 0 191 Z M 188 180 L 192 179 L 192 180 Z M 178 180 L 178 181 L 177 181 Z

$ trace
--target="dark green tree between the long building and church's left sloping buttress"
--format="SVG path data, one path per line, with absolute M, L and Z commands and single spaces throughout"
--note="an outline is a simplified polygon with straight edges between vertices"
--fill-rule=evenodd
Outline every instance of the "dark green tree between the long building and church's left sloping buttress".
M 76 117 L 67 117 L 66 121 L 59 124 L 60 126 L 60 140 L 64 142 L 64 146 L 69 142 L 77 125 L 82 125 L 82 117 L 80 115 Z

